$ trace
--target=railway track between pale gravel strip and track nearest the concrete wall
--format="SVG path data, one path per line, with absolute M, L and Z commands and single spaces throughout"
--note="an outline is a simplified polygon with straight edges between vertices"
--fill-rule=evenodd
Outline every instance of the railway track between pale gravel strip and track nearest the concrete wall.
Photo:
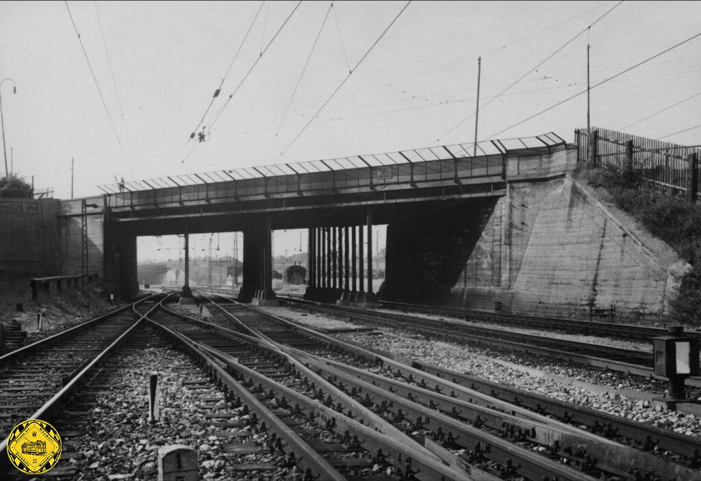
M 434 335 L 436 337 L 547 355 L 574 363 L 603 367 L 618 372 L 635 374 L 648 379 L 666 381 L 665 378 L 655 374 L 653 369 L 653 354 L 651 351 L 635 351 L 602 344 L 557 339 L 557 337 L 552 336 L 524 334 L 507 329 L 477 327 L 465 325 L 463 323 L 451 323 L 448 320 L 403 316 L 399 313 L 387 313 L 374 311 L 372 309 L 322 304 L 290 297 L 278 297 L 278 299 L 288 304 L 297 304 L 305 306 L 308 309 L 345 316 L 348 320 L 351 320 L 351 322 L 358 320 L 372 325 L 383 324 L 389 325 L 390 327 L 411 328 L 418 330 L 418 332 L 422 334 Z M 701 387 L 701 377 L 690 377 L 686 379 L 686 385 Z

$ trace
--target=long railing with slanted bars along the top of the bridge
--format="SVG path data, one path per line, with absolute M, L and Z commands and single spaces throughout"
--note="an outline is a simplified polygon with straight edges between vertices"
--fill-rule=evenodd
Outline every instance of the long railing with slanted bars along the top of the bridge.
M 543 149 L 564 144 L 548 133 L 537 137 L 454 144 L 426 149 L 333 158 L 322 161 L 172 175 L 99 186 L 110 207 L 210 202 L 273 194 L 339 189 L 376 189 L 397 184 L 504 177 L 505 154 L 512 149 Z M 475 155 L 476 153 L 476 155 Z

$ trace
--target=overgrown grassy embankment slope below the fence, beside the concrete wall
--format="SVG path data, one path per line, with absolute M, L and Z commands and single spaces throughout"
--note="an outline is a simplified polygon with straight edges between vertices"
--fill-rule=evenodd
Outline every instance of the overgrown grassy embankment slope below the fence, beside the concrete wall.
M 679 323 L 701 326 L 701 205 L 653 189 L 635 172 L 626 176 L 613 168 L 579 168 L 577 177 L 606 189 L 618 208 L 691 264 L 693 269 L 684 277 L 679 296 L 670 302 L 670 314 Z

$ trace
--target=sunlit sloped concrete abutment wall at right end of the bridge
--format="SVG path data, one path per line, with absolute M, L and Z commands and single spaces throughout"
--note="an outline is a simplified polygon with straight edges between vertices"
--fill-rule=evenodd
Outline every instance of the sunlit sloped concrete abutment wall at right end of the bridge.
M 501 207 L 501 209 L 500 209 Z M 512 182 L 465 265 L 455 302 L 550 316 L 660 318 L 690 266 L 571 175 Z M 499 275 L 497 275 L 497 273 Z

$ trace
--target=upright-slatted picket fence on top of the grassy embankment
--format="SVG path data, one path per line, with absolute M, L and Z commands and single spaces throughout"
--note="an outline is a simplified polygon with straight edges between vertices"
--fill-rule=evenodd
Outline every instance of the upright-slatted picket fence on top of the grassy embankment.
M 701 198 L 699 147 L 604 128 L 592 128 L 590 132 L 576 129 L 574 135 L 578 163 L 635 170 L 654 187 L 683 194 L 693 201 Z

